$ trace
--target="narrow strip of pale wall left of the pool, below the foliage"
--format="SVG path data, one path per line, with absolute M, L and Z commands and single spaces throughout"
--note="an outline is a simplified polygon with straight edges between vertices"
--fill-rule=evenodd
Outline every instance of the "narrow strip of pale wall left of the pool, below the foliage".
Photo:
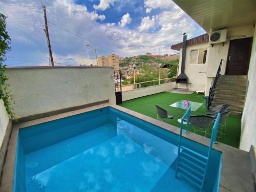
M 11 134 L 12 123 L 5 110 L 4 101 L 0 100 L 0 179 L 2 176 L 2 168 L 4 164 L 7 144 Z

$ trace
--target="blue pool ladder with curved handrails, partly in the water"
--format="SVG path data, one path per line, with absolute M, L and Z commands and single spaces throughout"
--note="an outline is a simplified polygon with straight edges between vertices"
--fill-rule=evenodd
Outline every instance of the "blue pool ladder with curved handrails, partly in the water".
M 208 167 L 209 157 L 211 153 L 212 143 L 216 142 L 216 136 L 220 121 L 220 113 L 218 114 L 214 126 L 212 127 L 212 134 L 210 139 L 210 145 L 208 149 L 207 156 L 197 153 L 190 148 L 182 145 L 182 130 L 183 130 L 183 121 L 187 118 L 187 125 L 185 133 L 188 133 L 189 119 L 190 119 L 190 107 L 183 115 L 181 119 L 180 126 L 180 138 L 178 145 L 178 157 L 177 157 L 177 165 L 175 170 L 175 177 L 178 178 L 178 173 L 181 174 L 186 180 L 196 185 L 200 188 L 200 192 L 203 189 L 203 185 L 205 182 L 206 170 Z

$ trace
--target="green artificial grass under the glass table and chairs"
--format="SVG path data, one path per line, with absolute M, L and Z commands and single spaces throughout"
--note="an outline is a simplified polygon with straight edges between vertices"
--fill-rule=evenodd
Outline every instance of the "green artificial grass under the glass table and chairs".
M 169 115 L 175 117 L 175 119 L 165 119 L 164 122 L 180 127 L 180 123 L 177 120 L 184 115 L 186 110 L 169 106 L 170 104 L 173 104 L 179 100 L 188 100 L 200 103 L 205 102 L 204 95 L 196 94 L 195 92 L 189 95 L 163 92 L 124 101 L 122 104 L 120 104 L 120 106 L 157 119 L 157 111 L 155 105 L 159 105 L 161 108 L 167 110 Z M 205 115 L 205 112 L 206 108 L 203 104 L 197 111 L 191 111 L 191 115 Z M 227 135 L 222 135 L 222 138 L 217 138 L 217 141 L 238 148 L 241 135 L 241 117 L 230 114 L 226 120 L 226 126 Z M 194 132 L 191 125 L 189 126 L 189 131 Z M 200 132 L 196 133 L 203 135 Z M 211 133 L 211 129 L 208 129 L 207 133 Z M 208 135 L 207 137 L 209 138 L 210 136 Z

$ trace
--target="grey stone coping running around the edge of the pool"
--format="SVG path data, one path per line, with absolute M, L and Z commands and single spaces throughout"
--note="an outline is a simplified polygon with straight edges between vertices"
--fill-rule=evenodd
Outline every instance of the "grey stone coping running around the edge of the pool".
M 13 126 L 12 135 L 10 138 L 9 146 L 8 146 L 8 153 L 7 153 L 7 159 L 3 170 L 3 178 L 0 190 L 1 191 L 12 191 L 13 190 L 13 176 L 14 176 L 14 163 L 15 163 L 15 153 L 16 153 L 16 143 L 17 143 L 17 135 L 18 135 L 18 129 L 22 129 L 23 127 L 31 126 L 34 124 L 39 124 L 42 122 L 48 122 L 55 119 L 60 119 L 96 109 L 103 108 L 105 106 L 111 106 L 112 108 L 115 108 L 119 111 L 122 111 L 124 113 L 127 113 L 129 115 L 135 116 L 139 119 L 142 119 L 144 121 L 147 121 L 151 124 L 155 124 L 162 129 L 165 129 L 167 131 L 173 132 L 177 135 L 179 135 L 179 128 L 169 125 L 164 122 L 160 122 L 156 119 L 153 119 L 151 117 L 144 116 L 142 114 L 133 112 L 131 110 L 127 110 L 125 108 L 122 108 L 117 105 L 111 105 L 111 104 L 101 104 L 97 106 L 93 106 L 90 108 L 77 110 L 73 112 L 67 112 L 59 115 L 54 115 L 47 118 L 37 119 L 29 122 L 20 123 Z M 203 145 L 208 145 L 209 140 L 207 138 L 203 138 L 201 136 L 195 135 L 195 134 L 184 134 L 184 137 L 196 141 L 198 143 L 201 143 Z M 239 191 L 254 191 L 253 186 L 253 178 L 248 175 L 250 171 L 248 153 L 238 150 L 236 148 L 224 145 L 222 143 L 219 143 L 217 145 L 214 145 L 214 149 L 222 152 L 222 170 L 221 170 L 221 183 L 220 183 L 220 191 L 225 191 L 227 189 L 230 190 L 237 190 Z M 231 161 L 230 161 L 231 160 Z M 246 162 L 246 163 L 245 163 Z M 237 164 L 241 164 L 241 166 L 237 166 Z M 230 178 L 230 175 L 232 177 Z

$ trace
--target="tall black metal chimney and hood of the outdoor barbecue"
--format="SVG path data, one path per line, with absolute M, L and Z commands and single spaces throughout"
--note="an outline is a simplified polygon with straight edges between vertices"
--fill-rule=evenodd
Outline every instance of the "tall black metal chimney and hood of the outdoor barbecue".
M 186 62 L 186 49 L 187 49 L 187 35 L 186 35 L 186 33 L 183 33 L 181 73 L 176 78 L 176 83 L 188 83 L 188 77 L 184 73 L 184 71 L 185 71 L 185 62 Z

